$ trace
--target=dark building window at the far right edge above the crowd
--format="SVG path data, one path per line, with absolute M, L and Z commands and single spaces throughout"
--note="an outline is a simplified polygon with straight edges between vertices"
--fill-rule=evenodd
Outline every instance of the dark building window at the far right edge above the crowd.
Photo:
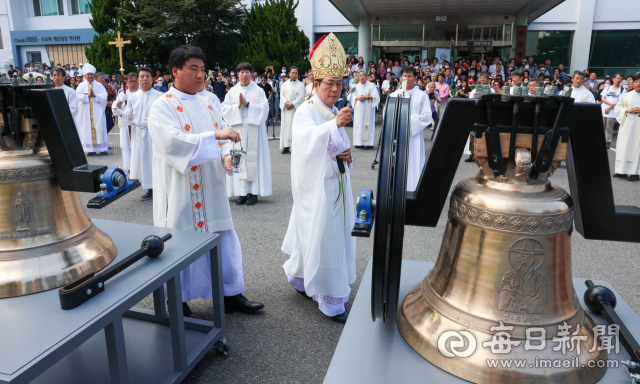
M 599 78 L 616 73 L 635 75 L 640 71 L 638 45 L 640 30 L 591 32 L 589 70 L 597 73 Z

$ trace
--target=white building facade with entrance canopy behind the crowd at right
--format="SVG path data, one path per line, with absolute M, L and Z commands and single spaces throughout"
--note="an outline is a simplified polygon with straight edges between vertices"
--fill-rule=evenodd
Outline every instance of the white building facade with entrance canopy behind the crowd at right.
M 245 1 L 250 6 L 251 0 Z M 347 53 L 365 61 L 405 55 L 434 58 L 436 48 L 450 49 L 453 59 L 484 51 L 508 60 L 516 56 L 516 27 L 528 25 L 526 56 L 536 62 L 550 58 L 552 66 L 564 64 L 565 71 L 589 68 L 599 78 L 640 71 L 638 0 L 549 0 L 546 8 L 527 10 L 523 5 L 519 12 L 501 5 L 508 2 L 493 0 L 482 5 L 425 1 L 423 12 L 411 12 L 415 3 L 403 0 L 299 1 L 298 25 L 311 45 L 333 32 Z

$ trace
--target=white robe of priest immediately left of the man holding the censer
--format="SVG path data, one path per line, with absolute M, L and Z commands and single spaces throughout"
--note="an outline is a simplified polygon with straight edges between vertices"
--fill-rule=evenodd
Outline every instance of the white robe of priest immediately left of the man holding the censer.
M 163 94 L 151 88 L 129 95 L 124 114 L 131 121 L 131 178 L 140 180 L 142 188 L 153 188 L 153 142 L 149 135 L 148 119 L 151 105 Z

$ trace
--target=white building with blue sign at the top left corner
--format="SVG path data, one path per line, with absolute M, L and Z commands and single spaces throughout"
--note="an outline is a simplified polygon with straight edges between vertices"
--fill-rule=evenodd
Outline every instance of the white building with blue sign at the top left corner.
M 0 67 L 86 62 L 91 0 L 0 0 Z M 4 72 L 3 71 L 3 72 Z

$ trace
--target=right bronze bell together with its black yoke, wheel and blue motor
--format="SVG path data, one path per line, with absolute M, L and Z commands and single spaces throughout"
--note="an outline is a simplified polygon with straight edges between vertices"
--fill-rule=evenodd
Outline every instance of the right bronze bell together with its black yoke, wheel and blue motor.
M 599 109 L 574 105 L 570 89 L 562 96 L 555 89 L 544 96 L 537 91 L 526 97 L 520 90 L 492 95 L 478 86 L 477 100 L 451 100 L 411 193 L 404 181 L 409 103 L 391 98 L 376 200 L 364 190 L 358 199 L 362 216 L 352 234 L 369 236 L 375 228 L 373 319 L 396 319 L 416 352 L 474 383 L 597 382 L 606 367 L 588 362 L 607 355 L 591 348 L 595 323 L 573 287 L 574 219 L 587 239 L 640 242 L 640 233 L 631 229 L 640 225 L 637 208 L 613 205 Z M 403 227 L 437 224 L 470 132 L 480 170 L 451 193 L 435 266 L 400 303 Z M 573 199 L 549 179 L 561 161 L 568 164 Z M 575 338 L 564 354 L 554 350 L 563 329 Z M 441 352 L 440 336 L 450 331 L 466 335 L 460 343 L 473 345 L 470 355 Z M 495 345 L 496 336 L 513 343 L 509 353 L 500 353 L 504 344 Z M 531 348 L 523 348 L 532 336 Z M 499 362 L 507 359 L 528 363 L 516 372 Z M 547 359 L 572 364 L 535 364 Z M 498 368 L 488 367 L 487 360 L 498 361 Z

